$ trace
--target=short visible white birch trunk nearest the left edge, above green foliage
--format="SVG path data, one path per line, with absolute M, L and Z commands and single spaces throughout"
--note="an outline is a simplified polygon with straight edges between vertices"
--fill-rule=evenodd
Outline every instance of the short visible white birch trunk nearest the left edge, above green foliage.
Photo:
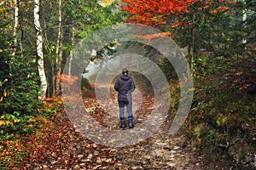
M 12 52 L 12 55 L 15 56 L 16 54 L 16 51 L 17 51 L 17 30 L 18 30 L 18 27 L 19 27 L 19 2 L 20 0 L 15 0 L 14 3 L 15 3 L 15 26 L 14 26 L 14 44 L 13 44 L 13 52 Z

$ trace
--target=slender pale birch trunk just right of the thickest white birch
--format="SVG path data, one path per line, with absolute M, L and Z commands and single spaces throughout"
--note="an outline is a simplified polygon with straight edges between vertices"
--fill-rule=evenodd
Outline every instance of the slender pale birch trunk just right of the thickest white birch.
M 58 30 L 58 39 L 57 39 L 57 45 L 56 45 L 56 75 L 61 74 L 61 61 L 62 61 L 62 37 L 63 32 L 61 29 L 61 0 L 59 0 L 59 30 Z M 59 95 L 61 94 L 61 80 L 56 79 L 56 86 L 55 86 L 55 94 Z

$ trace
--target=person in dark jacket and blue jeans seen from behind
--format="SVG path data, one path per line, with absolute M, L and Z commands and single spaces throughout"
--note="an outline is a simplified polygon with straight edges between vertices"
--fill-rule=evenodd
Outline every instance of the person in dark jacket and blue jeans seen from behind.
M 125 128 L 125 106 L 128 113 L 129 128 L 133 128 L 133 115 L 132 115 L 132 99 L 131 92 L 134 91 L 135 83 L 132 78 L 128 76 L 128 69 L 122 70 L 122 75 L 114 83 L 114 89 L 118 93 L 119 101 L 119 117 L 120 117 L 120 128 Z

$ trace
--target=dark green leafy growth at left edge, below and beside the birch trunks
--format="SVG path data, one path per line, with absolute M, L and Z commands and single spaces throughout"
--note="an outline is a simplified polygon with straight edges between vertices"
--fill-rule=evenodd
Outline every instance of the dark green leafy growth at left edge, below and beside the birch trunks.
M 44 104 L 38 100 L 36 59 L 10 55 L 8 37 L 0 37 L 0 135 L 9 139 L 16 132 L 32 132 L 27 125 L 43 113 Z

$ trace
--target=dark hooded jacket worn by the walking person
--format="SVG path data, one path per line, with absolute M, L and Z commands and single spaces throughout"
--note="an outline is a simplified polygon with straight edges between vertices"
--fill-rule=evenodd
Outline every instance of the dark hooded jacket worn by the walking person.
M 113 88 L 119 92 L 119 101 L 131 101 L 131 92 L 133 92 L 136 87 L 131 77 L 122 75 L 114 83 Z

